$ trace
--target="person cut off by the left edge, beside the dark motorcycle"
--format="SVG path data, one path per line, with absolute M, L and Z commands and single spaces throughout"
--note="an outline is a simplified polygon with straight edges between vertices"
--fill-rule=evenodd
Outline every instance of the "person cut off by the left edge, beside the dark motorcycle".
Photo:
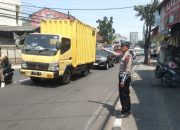
M 4 74 L 3 74 L 3 61 L 4 61 L 4 57 L 2 56 L 2 51 L 1 51 L 1 48 L 0 48 L 0 80 L 1 80 L 1 88 L 5 87 Z

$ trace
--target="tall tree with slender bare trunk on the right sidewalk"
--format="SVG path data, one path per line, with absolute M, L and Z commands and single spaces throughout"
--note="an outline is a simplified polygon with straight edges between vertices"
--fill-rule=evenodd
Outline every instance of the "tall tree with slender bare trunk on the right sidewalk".
M 144 59 L 144 64 L 149 63 L 149 58 L 150 58 L 150 33 L 151 33 L 151 28 L 154 25 L 155 22 L 155 16 L 154 13 L 157 10 L 157 7 L 159 5 L 158 0 L 153 0 L 151 4 L 147 4 L 145 6 L 140 5 L 140 6 L 134 6 L 134 10 L 137 11 L 138 13 L 136 14 L 137 17 L 140 17 L 141 21 L 144 21 L 145 23 L 145 45 L 144 45 L 144 51 L 145 51 L 145 59 Z

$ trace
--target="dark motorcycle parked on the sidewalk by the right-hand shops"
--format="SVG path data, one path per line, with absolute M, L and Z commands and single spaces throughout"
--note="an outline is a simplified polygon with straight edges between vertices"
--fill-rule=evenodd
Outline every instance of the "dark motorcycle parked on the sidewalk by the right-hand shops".
M 180 69 L 170 68 L 165 64 L 157 63 L 155 77 L 161 79 L 164 87 L 180 85 Z

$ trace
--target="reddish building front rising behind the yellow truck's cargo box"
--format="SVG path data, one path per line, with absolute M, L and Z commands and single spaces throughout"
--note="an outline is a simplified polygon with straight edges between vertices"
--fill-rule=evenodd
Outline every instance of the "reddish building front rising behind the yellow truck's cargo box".
M 49 8 L 43 8 L 30 15 L 31 26 L 40 26 L 41 20 L 46 19 L 75 19 L 75 17 Z

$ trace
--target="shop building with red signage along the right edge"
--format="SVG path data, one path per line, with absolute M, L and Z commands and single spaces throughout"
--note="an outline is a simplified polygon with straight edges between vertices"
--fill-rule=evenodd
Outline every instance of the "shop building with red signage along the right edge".
M 161 50 L 159 62 L 168 65 L 174 62 L 180 68 L 180 0 L 164 0 L 158 7 L 159 21 L 153 30 L 154 41 Z

